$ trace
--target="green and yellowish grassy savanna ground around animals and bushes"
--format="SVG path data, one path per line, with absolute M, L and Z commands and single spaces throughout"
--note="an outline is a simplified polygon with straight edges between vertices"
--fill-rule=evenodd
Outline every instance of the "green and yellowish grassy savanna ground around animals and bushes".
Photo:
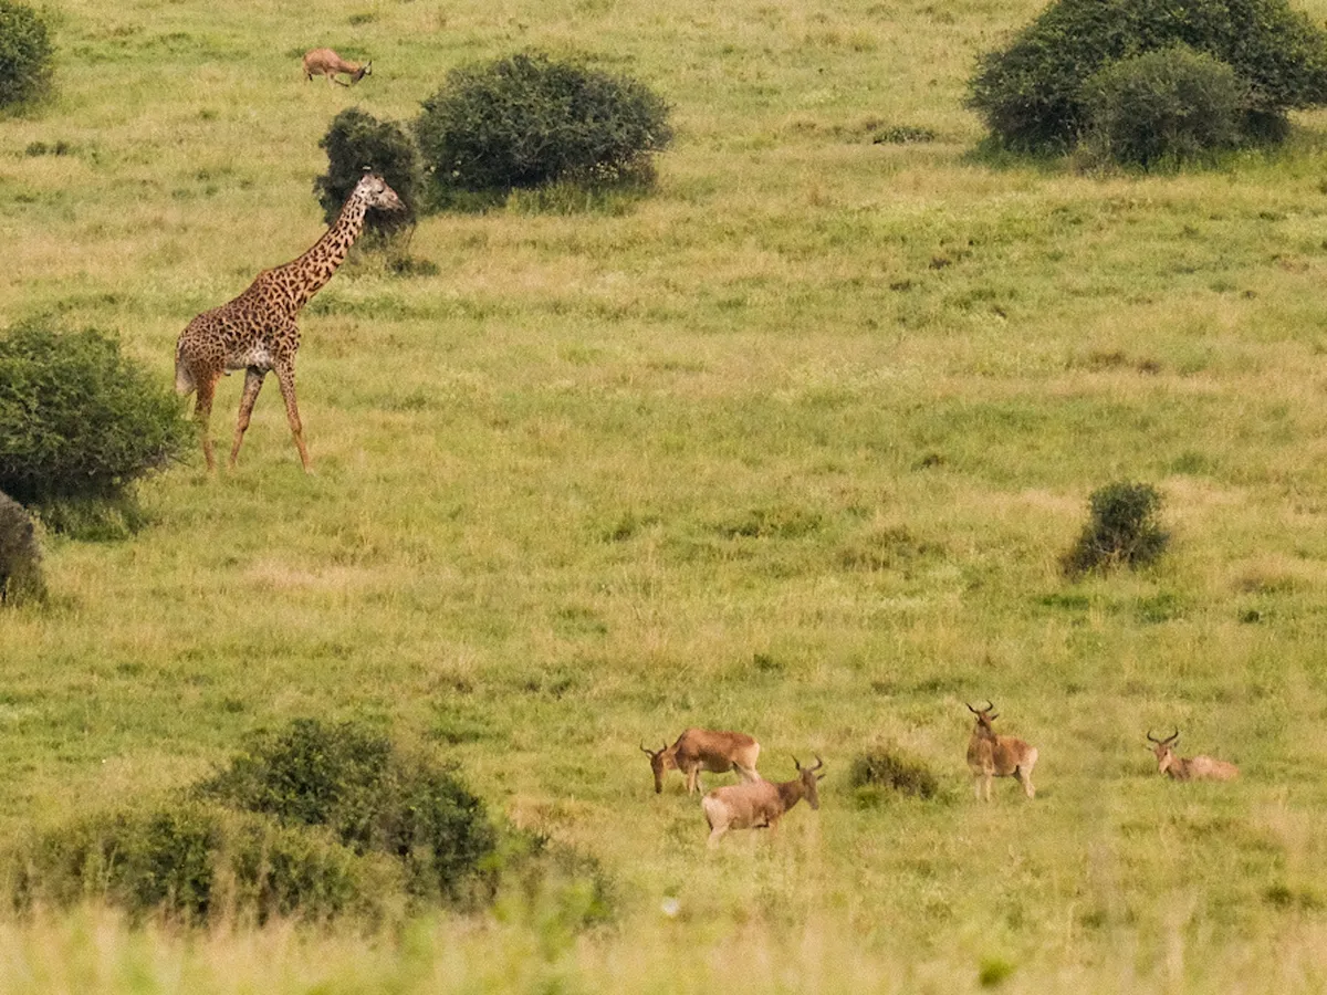
M 1327 113 L 1169 175 L 982 154 L 965 81 L 1039 9 L 53 3 L 57 97 L 0 121 L 0 326 L 115 332 L 163 385 L 194 314 L 325 230 L 346 106 L 583 52 L 677 139 L 649 196 L 353 256 L 301 320 L 314 472 L 268 378 L 235 471 L 191 450 L 134 537 L 46 535 L 49 602 L 0 614 L 0 841 L 356 719 L 596 857 L 612 919 L 7 913 L 0 992 L 1327 990 Z M 307 82 L 318 45 L 373 74 Z M 1121 479 L 1169 549 L 1066 578 Z M 1031 801 L 973 799 L 987 699 Z M 820 809 L 709 850 L 640 751 L 687 726 L 774 780 L 821 756 Z M 1239 780 L 1158 776 L 1174 727 Z M 881 747 L 941 792 L 853 792 Z

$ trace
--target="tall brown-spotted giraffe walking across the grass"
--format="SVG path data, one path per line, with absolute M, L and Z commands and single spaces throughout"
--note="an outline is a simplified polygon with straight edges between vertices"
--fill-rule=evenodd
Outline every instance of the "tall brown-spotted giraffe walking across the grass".
M 234 468 L 263 378 L 269 370 L 276 370 L 295 447 L 300 451 L 304 472 L 309 472 L 309 452 L 304 447 L 304 429 L 295 403 L 295 353 L 300 348 L 296 317 L 345 261 L 350 245 L 364 231 L 364 216 L 370 207 L 405 210 L 382 176 L 365 172 L 336 222 L 313 248 L 284 265 L 264 269 L 239 297 L 204 310 L 180 332 L 175 344 L 175 390 L 186 395 L 198 391 L 194 421 L 203 438 L 208 471 L 216 468 L 208 434 L 216 381 L 223 373 L 230 375 L 231 370 L 244 370 L 244 393 L 235 425 L 235 444 L 231 446 L 230 466 Z

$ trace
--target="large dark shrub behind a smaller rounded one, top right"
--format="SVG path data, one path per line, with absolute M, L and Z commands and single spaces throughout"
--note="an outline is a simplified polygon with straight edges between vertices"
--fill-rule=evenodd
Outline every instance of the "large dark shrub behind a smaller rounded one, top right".
M 1275 134 L 1287 110 L 1327 101 L 1327 34 L 1287 0 L 1056 0 L 1005 49 L 982 56 L 969 105 L 1010 147 L 1066 149 L 1087 126 L 1089 77 L 1176 45 L 1245 81 L 1249 134 Z

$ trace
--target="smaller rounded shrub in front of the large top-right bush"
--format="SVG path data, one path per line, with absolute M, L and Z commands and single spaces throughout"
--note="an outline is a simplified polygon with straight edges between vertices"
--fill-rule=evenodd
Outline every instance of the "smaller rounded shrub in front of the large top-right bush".
M 1149 167 L 1237 146 L 1249 86 L 1225 62 L 1177 45 L 1100 69 L 1084 86 L 1084 106 L 1097 155 Z

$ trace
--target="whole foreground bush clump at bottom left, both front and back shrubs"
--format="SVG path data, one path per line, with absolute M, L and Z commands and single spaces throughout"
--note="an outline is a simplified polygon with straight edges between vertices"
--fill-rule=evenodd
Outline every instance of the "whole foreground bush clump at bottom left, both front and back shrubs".
M 536 849 L 514 850 L 525 877 Z M 183 799 L 38 836 L 11 874 L 19 907 L 90 897 L 188 923 L 321 919 L 488 901 L 498 853 L 483 803 L 437 762 L 352 722 L 300 719 Z

